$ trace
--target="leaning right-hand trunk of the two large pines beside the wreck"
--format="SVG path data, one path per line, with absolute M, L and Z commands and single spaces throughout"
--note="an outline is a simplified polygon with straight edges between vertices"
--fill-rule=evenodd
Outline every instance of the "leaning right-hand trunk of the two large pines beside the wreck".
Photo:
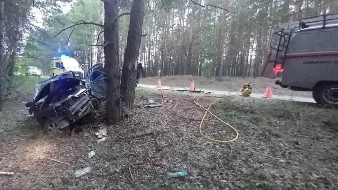
M 121 77 L 121 95 L 127 108 L 131 108 L 135 100 L 137 61 L 142 37 L 144 1 L 134 0 L 130 11 L 127 46 L 124 51 Z

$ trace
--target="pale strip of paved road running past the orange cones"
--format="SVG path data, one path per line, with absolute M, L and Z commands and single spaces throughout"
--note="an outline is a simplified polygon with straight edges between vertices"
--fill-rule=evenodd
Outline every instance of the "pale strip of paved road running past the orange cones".
M 138 84 L 138 87 L 143 87 L 143 88 L 154 88 L 156 89 L 156 86 L 154 85 L 142 85 Z M 170 89 L 170 90 L 189 90 L 188 88 L 176 88 L 176 87 L 165 87 L 163 86 L 163 89 Z M 205 92 L 211 92 L 212 94 L 217 94 L 217 95 L 234 95 L 237 92 L 230 92 L 230 91 L 218 91 L 218 90 L 206 90 L 206 89 L 196 89 L 196 90 L 201 90 Z M 263 94 L 260 93 L 252 93 L 251 97 L 254 98 L 263 98 Z M 297 101 L 297 102 L 309 102 L 309 103 L 316 103 L 313 98 L 309 97 L 300 97 L 300 96 L 281 96 L 281 95 L 273 95 L 273 99 L 279 99 L 279 100 L 288 100 L 288 101 Z

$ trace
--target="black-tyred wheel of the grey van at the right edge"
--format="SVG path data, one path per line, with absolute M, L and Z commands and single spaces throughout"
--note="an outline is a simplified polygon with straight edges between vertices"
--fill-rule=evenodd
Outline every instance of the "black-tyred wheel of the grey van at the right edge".
M 314 99 L 319 98 L 320 104 L 338 106 L 338 84 L 322 84 L 315 90 L 315 94 Z M 316 99 L 315 101 L 317 102 Z

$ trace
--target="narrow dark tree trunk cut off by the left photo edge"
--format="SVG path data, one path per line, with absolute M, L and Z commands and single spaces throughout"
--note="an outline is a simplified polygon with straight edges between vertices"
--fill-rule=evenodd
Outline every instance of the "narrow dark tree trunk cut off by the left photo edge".
M 0 111 L 2 110 L 2 54 L 3 54 L 3 21 L 5 1 L 0 0 Z

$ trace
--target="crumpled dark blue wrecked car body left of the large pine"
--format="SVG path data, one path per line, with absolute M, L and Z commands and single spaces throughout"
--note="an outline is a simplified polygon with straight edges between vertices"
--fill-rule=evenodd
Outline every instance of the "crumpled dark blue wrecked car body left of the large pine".
M 26 103 L 29 114 L 34 114 L 48 135 L 68 133 L 70 124 L 98 106 L 85 81 L 72 71 L 39 82 L 34 88 L 32 101 Z

